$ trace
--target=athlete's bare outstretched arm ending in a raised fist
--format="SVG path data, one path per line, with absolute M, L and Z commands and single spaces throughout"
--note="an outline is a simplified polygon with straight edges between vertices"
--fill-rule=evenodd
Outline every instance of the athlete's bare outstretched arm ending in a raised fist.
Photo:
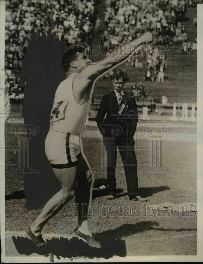
M 102 73 L 111 69 L 118 63 L 123 62 L 126 58 L 128 58 L 136 49 L 140 49 L 139 46 L 143 43 L 153 44 L 154 43 L 154 35 L 151 31 L 144 32 L 141 36 L 137 37 L 135 40 L 132 40 L 125 45 L 121 45 L 116 48 L 113 53 L 115 55 L 108 55 L 105 59 L 92 63 L 88 65 L 85 69 L 83 69 L 78 77 L 81 79 L 89 79 L 93 81 Z

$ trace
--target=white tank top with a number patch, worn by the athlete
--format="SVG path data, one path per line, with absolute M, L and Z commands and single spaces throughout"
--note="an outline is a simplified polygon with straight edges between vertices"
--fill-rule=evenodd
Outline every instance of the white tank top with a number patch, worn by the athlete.
M 56 90 L 51 111 L 50 130 L 80 134 L 88 101 L 79 104 L 73 95 L 75 73 L 61 82 Z

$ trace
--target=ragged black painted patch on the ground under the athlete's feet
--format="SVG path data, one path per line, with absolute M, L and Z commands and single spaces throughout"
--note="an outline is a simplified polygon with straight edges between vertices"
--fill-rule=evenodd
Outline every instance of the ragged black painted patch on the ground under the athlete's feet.
M 70 240 L 68 238 L 52 238 L 47 240 L 47 247 L 45 249 L 38 248 L 34 242 L 27 237 L 14 237 L 13 243 L 19 254 L 31 255 L 37 253 L 39 255 L 47 256 L 52 253 L 60 257 L 87 257 L 87 258 L 111 258 L 112 256 L 126 256 L 125 240 L 121 238 L 103 238 L 99 242 L 102 248 L 90 247 L 86 242 L 77 237 Z

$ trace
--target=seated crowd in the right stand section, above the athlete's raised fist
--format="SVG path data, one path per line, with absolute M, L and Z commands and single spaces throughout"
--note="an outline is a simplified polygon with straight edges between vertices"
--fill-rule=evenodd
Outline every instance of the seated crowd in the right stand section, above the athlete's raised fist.
M 151 30 L 158 44 L 182 44 L 187 40 L 184 26 L 188 7 L 194 7 L 200 0 L 107 0 L 103 34 L 105 45 L 126 43 Z

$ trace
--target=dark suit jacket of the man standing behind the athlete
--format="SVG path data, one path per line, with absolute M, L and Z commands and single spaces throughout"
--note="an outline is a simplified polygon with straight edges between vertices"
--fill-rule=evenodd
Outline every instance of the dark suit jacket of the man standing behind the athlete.
M 124 92 L 121 105 L 124 108 L 119 115 L 118 101 L 114 89 L 112 89 L 110 93 L 102 97 L 96 122 L 103 136 L 114 135 L 117 139 L 127 139 L 129 142 L 133 139 L 138 121 L 137 105 L 133 93 Z M 117 131 L 116 127 L 118 128 Z

